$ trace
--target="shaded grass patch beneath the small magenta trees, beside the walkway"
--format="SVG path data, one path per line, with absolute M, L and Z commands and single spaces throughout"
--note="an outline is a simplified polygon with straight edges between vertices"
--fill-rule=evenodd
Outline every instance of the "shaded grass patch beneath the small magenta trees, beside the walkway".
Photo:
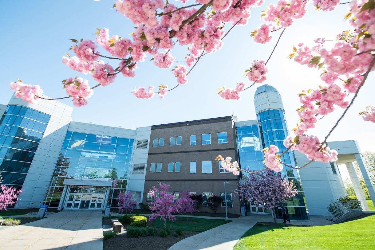
M 192 232 L 203 232 L 211 228 L 216 228 L 217 226 L 223 225 L 225 223 L 231 222 L 231 220 L 217 220 L 217 219 L 202 219 L 202 218 L 192 218 L 188 217 L 188 220 L 196 221 L 186 222 L 186 217 L 176 217 L 177 220 L 174 222 L 166 222 L 166 228 L 171 230 L 181 229 L 182 231 L 192 231 Z M 156 228 L 164 228 L 164 221 L 156 219 L 153 223 Z

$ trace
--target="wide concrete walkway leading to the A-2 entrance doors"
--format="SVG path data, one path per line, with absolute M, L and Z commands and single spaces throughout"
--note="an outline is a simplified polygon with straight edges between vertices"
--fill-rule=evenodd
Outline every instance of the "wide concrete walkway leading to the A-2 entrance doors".
M 1 226 L 1 250 L 102 250 L 102 211 L 63 210 L 20 226 Z

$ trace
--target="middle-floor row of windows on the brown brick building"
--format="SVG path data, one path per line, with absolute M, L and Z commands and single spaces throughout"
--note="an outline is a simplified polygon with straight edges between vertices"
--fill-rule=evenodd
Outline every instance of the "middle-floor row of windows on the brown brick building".
M 219 172 L 220 173 L 229 173 L 229 171 L 225 170 L 221 166 L 221 161 L 219 164 Z M 196 162 L 190 162 L 189 165 L 190 174 L 196 174 Z M 161 172 L 162 171 L 162 163 L 150 163 L 150 172 Z M 181 171 L 181 162 L 169 162 L 168 163 L 168 172 L 180 172 Z M 212 173 L 212 162 L 211 161 L 202 161 L 202 174 L 210 174 Z

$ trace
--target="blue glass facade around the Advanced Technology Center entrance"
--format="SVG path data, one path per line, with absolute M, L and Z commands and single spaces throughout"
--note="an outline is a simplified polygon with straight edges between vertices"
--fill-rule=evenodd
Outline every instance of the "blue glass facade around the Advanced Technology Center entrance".
M 51 178 L 49 207 L 57 207 L 65 178 L 99 177 L 114 181 L 108 204 L 118 207 L 118 195 L 125 192 L 134 139 L 68 131 Z

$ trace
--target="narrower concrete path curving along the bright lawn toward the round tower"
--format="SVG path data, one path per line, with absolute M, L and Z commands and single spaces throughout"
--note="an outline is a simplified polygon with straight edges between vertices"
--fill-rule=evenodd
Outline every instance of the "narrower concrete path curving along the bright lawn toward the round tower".
M 190 217 L 203 217 L 206 219 L 223 219 L 221 217 L 208 217 L 208 216 L 190 216 Z M 292 225 L 306 225 L 306 226 L 323 226 L 332 224 L 324 220 L 324 216 L 310 216 L 307 222 L 291 221 L 288 224 Z M 233 249 L 234 245 L 239 241 L 243 234 L 252 228 L 257 222 L 274 222 L 271 215 L 268 214 L 248 214 L 238 219 L 229 218 L 233 222 L 226 223 L 216 228 L 201 232 L 200 234 L 193 235 L 185 238 L 168 250 L 229 250 Z M 282 220 L 277 220 L 281 222 Z M 287 225 L 288 225 L 287 224 Z

